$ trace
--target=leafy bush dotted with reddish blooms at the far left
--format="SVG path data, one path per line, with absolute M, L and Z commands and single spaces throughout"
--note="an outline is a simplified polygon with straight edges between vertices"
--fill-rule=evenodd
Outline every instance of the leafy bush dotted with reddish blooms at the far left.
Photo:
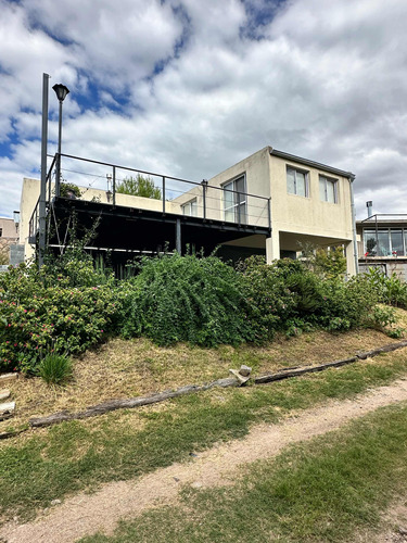
M 0 370 L 34 371 L 43 355 L 85 351 L 113 327 L 112 286 L 69 282 L 24 264 L 0 276 Z

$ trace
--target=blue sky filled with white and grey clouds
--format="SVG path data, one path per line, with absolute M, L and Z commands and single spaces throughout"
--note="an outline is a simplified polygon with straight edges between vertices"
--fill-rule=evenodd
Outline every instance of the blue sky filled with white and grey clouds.
M 0 0 L 0 216 L 49 148 L 193 181 L 271 146 L 407 213 L 405 0 Z M 68 181 L 74 174 L 64 173 Z M 89 185 L 105 187 L 94 176 Z

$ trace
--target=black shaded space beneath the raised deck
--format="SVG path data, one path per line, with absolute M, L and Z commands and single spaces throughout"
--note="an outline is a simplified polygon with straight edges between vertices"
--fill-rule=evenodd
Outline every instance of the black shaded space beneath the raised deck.
M 51 220 L 53 227 L 58 225 L 58 235 L 51 235 L 51 247 L 64 244 L 63 240 L 69 217 L 76 215 L 78 236 L 89 230 L 96 220 L 100 220 L 97 236 L 90 245 L 94 252 L 111 251 L 114 263 L 124 263 L 137 254 L 158 253 L 167 248 L 174 251 L 178 248 L 181 253 L 189 245 L 196 252 L 203 249 L 209 255 L 214 249 L 222 243 L 254 235 L 264 238 L 270 236 L 267 227 L 239 225 L 222 220 L 205 219 L 186 215 L 163 213 L 137 207 L 110 205 L 100 202 L 55 198 L 52 203 Z M 71 223 L 72 224 L 72 223 Z M 52 228 L 54 231 L 54 228 Z M 245 257 L 258 253 L 258 248 L 238 248 L 233 253 L 225 250 L 228 258 Z M 221 255 L 222 248 L 219 251 Z

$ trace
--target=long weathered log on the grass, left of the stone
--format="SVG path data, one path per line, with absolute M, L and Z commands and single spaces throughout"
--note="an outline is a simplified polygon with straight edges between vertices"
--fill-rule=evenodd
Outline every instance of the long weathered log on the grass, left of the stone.
M 90 407 L 87 407 L 82 412 L 69 413 L 67 411 L 63 411 L 50 415 L 48 417 L 30 418 L 28 420 L 28 424 L 31 428 L 52 426 L 59 422 L 63 422 L 65 420 L 96 417 L 98 415 L 103 415 L 104 413 L 109 413 L 116 409 L 132 409 L 135 407 L 141 407 L 142 405 L 155 404 L 158 402 L 164 402 L 165 400 L 169 400 L 171 397 L 192 394 L 195 392 L 209 390 L 215 387 L 227 388 L 227 387 L 239 387 L 239 386 L 240 382 L 234 377 L 230 377 L 227 379 L 218 379 L 217 381 L 213 381 L 207 384 L 188 384 L 187 387 L 181 387 L 176 390 L 157 392 L 149 396 L 129 397 L 124 400 L 111 400 L 109 402 L 104 402 L 99 405 L 91 405 Z

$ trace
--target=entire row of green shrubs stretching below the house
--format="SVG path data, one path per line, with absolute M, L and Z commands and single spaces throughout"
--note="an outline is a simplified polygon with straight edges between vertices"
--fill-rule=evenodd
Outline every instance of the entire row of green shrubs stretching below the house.
M 215 256 L 175 253 L 142 258 L 136 277 L 116 280 L 86 255 L 93 236 L 78 240 L 73 217 L 60 256 L 48 255 L 40 270 L 21 265 L 0 276 L 0 370 L 35 371 L 44 355 L 79 353 L 107 334 L 216 346 L 316 328 L 402 333 L 390 311 L 374 310 L 378 301 L 404 303 L 407 287 L 396 278 L 329 278 L 300 261 L 266 265 L 259 256 L 234 269 Z

